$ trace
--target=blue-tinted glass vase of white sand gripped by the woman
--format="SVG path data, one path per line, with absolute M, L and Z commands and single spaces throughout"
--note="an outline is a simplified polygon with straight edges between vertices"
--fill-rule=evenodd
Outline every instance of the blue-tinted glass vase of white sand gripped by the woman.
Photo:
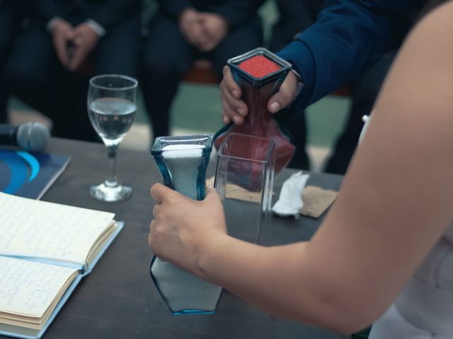
M 151 154 L 164 184 L 189 198 L 205 198 L 212 140 L 210 134 L 156 138 Z M 151 259 L 149 273 L 173 314 L 207 314 L 217 308 L 222 287 L 207 283 L 156 256 Z

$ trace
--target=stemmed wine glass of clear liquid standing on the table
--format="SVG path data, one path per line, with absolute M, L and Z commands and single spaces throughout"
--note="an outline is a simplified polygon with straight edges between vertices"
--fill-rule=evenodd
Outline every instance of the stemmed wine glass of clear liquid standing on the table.
M 110 169 L 105 182 L 91 186 L 90 194 L 101 201 L 121 201 L 132 194 L 116 178 L 116 153 L 137 112 L 138 81 L 129 76 L 106 74 L 91 78 L 88 88 L 88 116 L 107 147 Z

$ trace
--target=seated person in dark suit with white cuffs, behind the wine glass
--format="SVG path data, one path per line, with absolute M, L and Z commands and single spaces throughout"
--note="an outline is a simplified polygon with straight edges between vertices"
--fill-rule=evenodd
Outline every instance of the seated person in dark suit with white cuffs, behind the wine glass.
M 139 0 L 37 0 L 6 63 L 13 91 L 53 121 L 52 135 L 98 140 L 88 119 L 91 76 L 137 76 Z

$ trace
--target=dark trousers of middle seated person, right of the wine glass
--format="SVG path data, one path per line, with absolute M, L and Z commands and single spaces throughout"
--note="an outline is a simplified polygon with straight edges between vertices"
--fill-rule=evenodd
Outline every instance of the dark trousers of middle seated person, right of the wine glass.
M 231 30 L 212 52 L 201 53 L 185 40 L 175 20 L 157 13 L 149 25 L 140 77 L 154 137 L 170 133 L 171 102 L 195 59 L 210 59 L 214 71 L 222 78 L 227 59 L 260 46 L 262 40 L 261 23 L 256 18 Z

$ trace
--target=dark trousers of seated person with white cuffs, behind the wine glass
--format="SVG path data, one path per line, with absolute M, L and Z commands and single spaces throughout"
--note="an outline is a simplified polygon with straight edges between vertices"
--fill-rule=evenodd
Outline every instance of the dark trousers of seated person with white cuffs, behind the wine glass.
M 52 119 L 53 136 L 97 141 L 86 109 L 89 78 L 104 73 L 136 76 L 138 57 L 138 13 L 110 29 L 76 72 L 57 59 L 50 33 L 32 23 L 18 37 L 5 72 L 13 93 Z

